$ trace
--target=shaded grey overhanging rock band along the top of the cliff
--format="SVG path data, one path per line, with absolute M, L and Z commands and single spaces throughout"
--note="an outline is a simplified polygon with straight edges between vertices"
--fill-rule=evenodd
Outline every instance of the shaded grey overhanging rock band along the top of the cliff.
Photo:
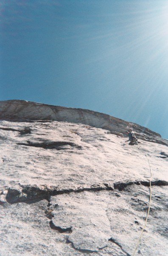
M 0 102 L 0 118 L 17 119 L 18 121 L 41 119 L 82 123 L 97 128 L 104 128 L 112 134 L 121 137 L 131 127 L 141 140 L 168 145 L 168 141 L 162 139 L 160 134 L 146 127 L 87 109 L 65 108 L 24 100 L 8 100 Z

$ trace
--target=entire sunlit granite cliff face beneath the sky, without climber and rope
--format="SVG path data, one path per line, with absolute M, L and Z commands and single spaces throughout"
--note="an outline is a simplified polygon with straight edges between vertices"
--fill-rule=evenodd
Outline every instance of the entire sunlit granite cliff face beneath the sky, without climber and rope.
M 129 122 L 94 111 L 26 101 L 0 111 L 0 255 L 132 255 L 151 175 L 135 255 L 167 255 L 166 140 L 131 123 L 143 140 L 129 145 Z

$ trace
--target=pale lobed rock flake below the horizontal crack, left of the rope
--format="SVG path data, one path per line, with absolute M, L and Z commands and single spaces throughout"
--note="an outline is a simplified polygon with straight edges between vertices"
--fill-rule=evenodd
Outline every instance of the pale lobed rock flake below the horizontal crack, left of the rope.
M 51 197 L 52 223 L 59 229 L 71 229 L 68 240 L 80 251 L 98 251 L 107 246 L 111 236 L 106 215 L 108 198 L 101 192 L 70 193 Z M 66 231 L 65 231 L 66 232 Z

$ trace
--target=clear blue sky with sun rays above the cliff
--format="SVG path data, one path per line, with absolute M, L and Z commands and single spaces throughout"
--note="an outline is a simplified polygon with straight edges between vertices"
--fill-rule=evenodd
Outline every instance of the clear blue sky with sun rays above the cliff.
M 86 108 L 168 139 L 167 0 L 1 0 L 0 100 Z

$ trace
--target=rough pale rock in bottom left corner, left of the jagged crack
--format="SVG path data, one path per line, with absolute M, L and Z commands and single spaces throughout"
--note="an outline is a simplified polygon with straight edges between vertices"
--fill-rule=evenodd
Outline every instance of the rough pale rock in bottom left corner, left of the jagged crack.
M 50 228 L 45 216 L 47 205 L 44 200 L 1 206 L 0 255 L 73 255 L 66 235 Z

